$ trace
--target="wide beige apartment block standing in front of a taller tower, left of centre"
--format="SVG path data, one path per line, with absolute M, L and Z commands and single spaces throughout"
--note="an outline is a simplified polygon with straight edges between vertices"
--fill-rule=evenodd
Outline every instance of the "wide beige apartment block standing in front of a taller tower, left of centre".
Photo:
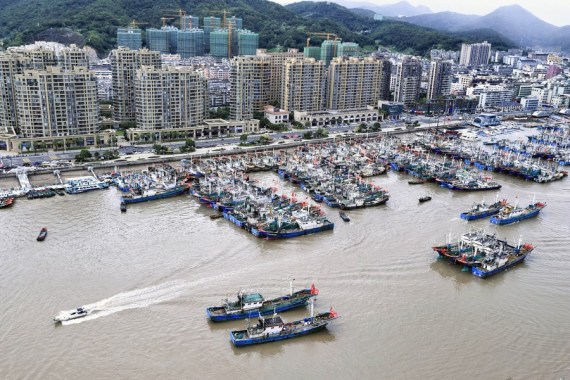
M 143 66 L 135 79 L 139 129 L 169 129 L 200 125 L 208 112 L 206 78 L 190 67 Z

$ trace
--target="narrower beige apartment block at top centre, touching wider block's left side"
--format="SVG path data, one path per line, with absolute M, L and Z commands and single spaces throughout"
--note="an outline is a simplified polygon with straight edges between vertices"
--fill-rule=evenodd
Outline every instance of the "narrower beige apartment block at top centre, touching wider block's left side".
M 281 108 L 288 111 L 322 111 L 326 94 L 326 68 L 314 58 L 288 59 L 283 65 Z

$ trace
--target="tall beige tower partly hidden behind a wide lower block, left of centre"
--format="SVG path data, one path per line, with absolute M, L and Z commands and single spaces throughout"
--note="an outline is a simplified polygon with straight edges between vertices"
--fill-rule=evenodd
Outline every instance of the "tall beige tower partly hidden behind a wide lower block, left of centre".
M 118 123 L 134 122 L 136 71 L 142 66 L 160 69 L 160 52 L 118 48 L 111 51 L 110 59 L 113 72 L 113 118 Z

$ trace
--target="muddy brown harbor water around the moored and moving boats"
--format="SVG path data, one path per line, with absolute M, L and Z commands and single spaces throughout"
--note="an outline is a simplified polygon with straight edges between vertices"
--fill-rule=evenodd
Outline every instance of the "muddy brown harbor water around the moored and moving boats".
M 0 378 L 569 379 L 570 180 L 494 177 L 500 198 L 526 206 L 536 196 L 547 207 L 509 226 L 466 222 L 459 214 L 496 192 L 410 186 L 389 172 L 371 179 L 390 192 L 386 205 L 349 211 L 349 223 L 323 205 L 333 231 L 267 241 L 211 220 L 213 210 L 186 195 L 126 213 L 115 188 L 18 199 L 0 210 Z M 273 173 L 255 178 L 305 198 Z M 432 200 L 420 204 L 426 194 Z M 469 226 L 536 249 L 507 272 L 476 278 L 431 250 Z M 42 227 L 49 234 L 39 243 Z M 247 348 L 229 342 L 246 321 L 206 318 L 207 306 L 240 289 L 269 298 L 292 278 L 296 288 L 314 283 L 316 309 L 332 306 L 341 318 Z M 98 312 L 52 322 L 83 305 Z

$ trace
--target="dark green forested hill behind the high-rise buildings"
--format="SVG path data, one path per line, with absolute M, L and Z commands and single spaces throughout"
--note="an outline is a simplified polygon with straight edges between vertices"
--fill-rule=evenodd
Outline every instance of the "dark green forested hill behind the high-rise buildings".
M 267 0 L 0 0 L 0 37 L 19 45 L 38 39 L 87 44 L 104 54 L 116 45 L 116 30 L 135 19 L 141 27 L 160 27 L 160 18 L 185 10 L 194 16 L 230 15 L 259 33 L 259 46 L 302 48 L 307 32 L 330 32 L 371 49 L 378 44 L 412 54 L 432 47 L 457 49 L 464 41 L 487 39 L 511 46 L 498 34 L 470 36 L 435 31 L 400 21 L 374 21 L 334 3 L 303 2 L 283 7 Z M 169 20 L 171 24 L 176 20 Z

